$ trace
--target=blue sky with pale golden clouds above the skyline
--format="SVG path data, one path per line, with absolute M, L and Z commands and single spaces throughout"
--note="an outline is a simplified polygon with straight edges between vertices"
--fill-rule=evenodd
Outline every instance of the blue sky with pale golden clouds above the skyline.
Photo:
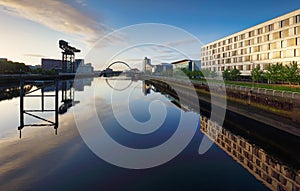
M 299 0 L 0 0 L 0 58 L 61 59 L 63 39 L 96 69 L 146 56 L 200 59 L 203 44 L 299 8 Z

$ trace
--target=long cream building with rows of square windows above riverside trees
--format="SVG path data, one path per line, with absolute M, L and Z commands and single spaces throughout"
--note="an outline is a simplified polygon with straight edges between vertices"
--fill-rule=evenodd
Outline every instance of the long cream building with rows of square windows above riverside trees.
M 258 24 L 201 48 L 201 67 L 221 74 L 239 69 L 249 76 L 252 68 L 269 64 L 300 64 L 300 9 Z

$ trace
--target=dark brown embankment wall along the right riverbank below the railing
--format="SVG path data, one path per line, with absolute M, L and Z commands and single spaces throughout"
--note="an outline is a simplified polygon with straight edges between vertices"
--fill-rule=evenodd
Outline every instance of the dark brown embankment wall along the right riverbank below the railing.
M 190 82 L 175 79 L 149 78 L 148 80 L 159 84 L 161 88 L 168 91 L 166 93 L 173 94 L 172 96 L 177 95 L 174 89 L 172 90 L 176 87 L 177 91 L 181 91 L 181 95 L 186 95 L 180 101 L 189 105 L 198 104 L 189 102 L 189 96 L 194 95 L 189 94 L 189 92 L 196 90 L 201 109 L 210 110 L 211 96 L 225 96 L 227 101 L 226 110 L 300 136 L 300 99 L 296 96 L 294 98 L 292 96 L 282 97 L 276 94 L 273 96 L 265 94 L 265 92 L 246 92 L 230 88 L 225 89 L 226 94 L 224 95 L 225 87 L 222 86 L 193 83 L 193 87 L 190 87 L 188 85 Z M 206 107 L 203 108 L 203 105 Z

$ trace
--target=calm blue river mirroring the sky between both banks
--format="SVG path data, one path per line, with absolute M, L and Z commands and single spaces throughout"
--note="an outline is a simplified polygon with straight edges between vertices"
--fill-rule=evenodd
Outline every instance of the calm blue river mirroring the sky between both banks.
M 29 91 L 36 87 L 27 86 Z M 67 103 L 62 102 L 64 96 L 73 105 L 58 114 L 57 131 L 52 126 L 25 126 L 21 138 L 20 98 L 13 93 L 18 85 L 7 88 L 2 92 L 11 97 L 0 101 L 0 190 L 300 188 L 299 158 L 284 161 L 276 148 L 260 147 L 189 106 L 178 107 L 178 100 L 143 81 L 59 82 L 59 105 Z M 54 87 L 44 90 L 49 95 L 44 109 L 55 106 L 53 93 Z M 26 97 L 24 108 L 40 108 L 41 102 Z M 53 121 L 55 112 L 39 116 Z M 40 120 L 25 115 L 24 123 Z M 199 154 L 204 137 L 215 143 Z

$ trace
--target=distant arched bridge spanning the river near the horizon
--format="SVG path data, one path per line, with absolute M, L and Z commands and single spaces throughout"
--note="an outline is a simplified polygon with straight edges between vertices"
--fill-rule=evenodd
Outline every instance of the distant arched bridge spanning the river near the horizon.
M 119 67 L 112 68 L 112 66 L 119 66 Z M 115 62 L 111 63 L 110 65 L 108 65 L 108 67 L 100 73 L 100 77 L 101 76 L 103 76 L 103 77 L 119 76 L 126 69 L 128 71 L 131 71 L 131 67 L 126 62 L 115 61 Z

